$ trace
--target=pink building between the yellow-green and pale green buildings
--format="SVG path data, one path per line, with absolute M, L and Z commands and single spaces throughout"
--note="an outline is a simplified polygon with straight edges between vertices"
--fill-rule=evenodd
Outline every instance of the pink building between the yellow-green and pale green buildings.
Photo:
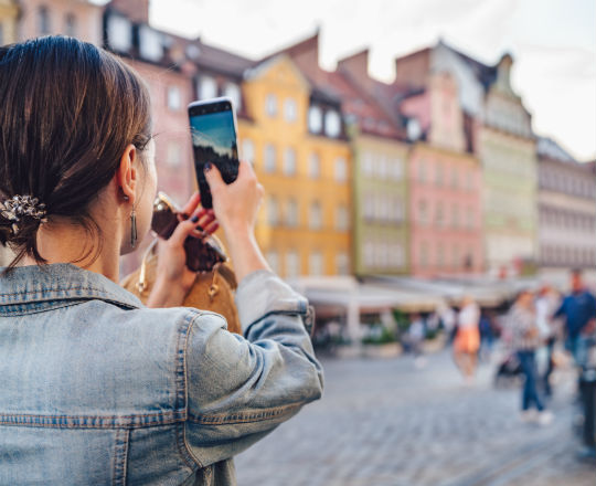
M 482 273 L 481 168 L 455 80 L 433 74 L 426 87 L 403 96 L 400 112 L 415 140 L 408 161 L 411 273 Z

